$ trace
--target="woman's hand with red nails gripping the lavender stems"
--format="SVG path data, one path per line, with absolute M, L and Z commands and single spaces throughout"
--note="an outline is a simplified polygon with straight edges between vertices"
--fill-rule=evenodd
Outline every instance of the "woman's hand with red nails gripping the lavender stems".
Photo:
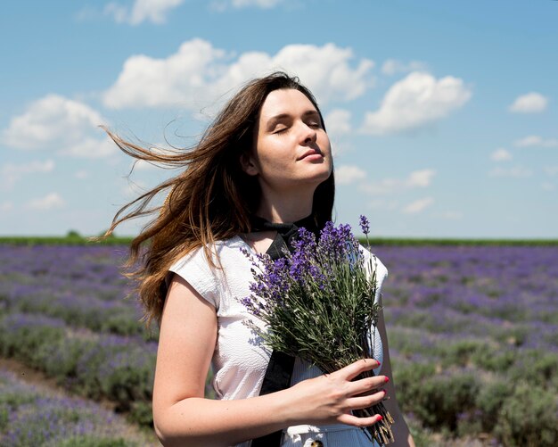
M 292 425 L 298 424 L 348 424 L 349 426 L 372 426 L 382 420 L 380 415 L 357 418 L 351 410 L 371 407 L 386 395 L 383 385 L 389 382 L 385 376 L 365 377 L 353 380 L 358 375 L 378 368 L 377 360 L 357 360 L 332 374 L 304 380 L 293 385 L 291 393 Z

